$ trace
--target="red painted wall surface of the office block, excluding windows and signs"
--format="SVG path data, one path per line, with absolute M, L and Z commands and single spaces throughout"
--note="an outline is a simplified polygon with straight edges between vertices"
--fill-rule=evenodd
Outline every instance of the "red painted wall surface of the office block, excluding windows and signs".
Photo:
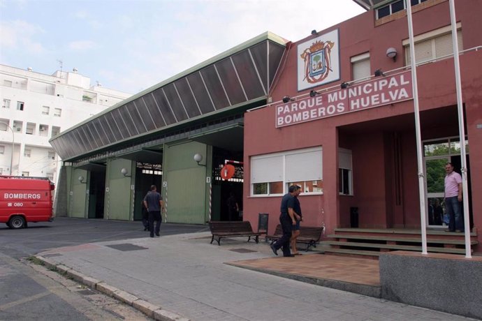
M 482 1 L 456 1 L 462 23 L 465 49 L 482 45 Z M 448 1 L 414 14 L 414 33 L 425 33 L 450 24 Z M 341 80 L 351 76 L 350 57 L 370 52 L 372 70 L 404 66 L 402 40 L 408 38 L 407 18 L 374 27 L 369 11 L 337 24 L 320 34 L 339 29 Z M 310 37 L 300 40 L 304 42 Z M 386 49 L 397 49 L 397 61 L 386 57 Z M 273 101 L 283 96 L 300 96 L 297 91 L 296 43 L 270 93 Z M 462 97 L 465 103 L 466 134 L 470 143 L 472 210 L 474 225 L 482 242 L 482 48 L 460 56 Z M 422 140 L 458 135 L 457 99 L 453 59 L 417 68 Z M 333 87 L 334 82 L 314 89 Z M 418 168 L 413 100 L 370 110 L 341 114 L 303 124 L 275 128 L 275 105 L 247 112 L 244 118 L 244 218 L 256 228 L 258 213 L 270 214 L 269 229 L 278 223 L 280 197 L 251 197 L 250 158 L 277 151 L 323 147 L 323 195 L 300 195 L 306 225 L 325 224 L 327 232 L 349 227 L 350 207 L 359 208 L 360 227 L 420 227 Z M 400 203 L 396 202 L 394 139 L 400 142 Z M 351 149 L 353 196 L 338 195 L 337 149 Z M 443 170 L 443 169 L 441 169 Z

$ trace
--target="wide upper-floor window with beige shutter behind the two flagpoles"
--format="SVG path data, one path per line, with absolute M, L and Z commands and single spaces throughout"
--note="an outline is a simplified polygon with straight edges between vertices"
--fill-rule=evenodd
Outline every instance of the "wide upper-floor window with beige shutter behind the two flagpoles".
M 457 24 L 458 50 L 463 50 L 462 25 Z M 409 40 L 403 40 L 407 65 L 411 64 Z M 417 64 L 453 55 L 451 26 L 423 33 L 414 37 L 415 61 Z

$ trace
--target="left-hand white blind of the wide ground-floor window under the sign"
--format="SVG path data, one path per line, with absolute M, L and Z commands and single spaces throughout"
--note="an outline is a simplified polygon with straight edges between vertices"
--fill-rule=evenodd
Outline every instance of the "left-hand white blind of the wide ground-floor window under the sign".
M 251 158 L 251 184 L 282 180 L 282 155 Z

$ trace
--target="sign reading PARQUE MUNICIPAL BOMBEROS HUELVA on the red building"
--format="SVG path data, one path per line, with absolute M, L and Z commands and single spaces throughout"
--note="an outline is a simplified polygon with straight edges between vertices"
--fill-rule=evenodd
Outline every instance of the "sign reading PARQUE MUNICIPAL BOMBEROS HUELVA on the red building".
M 413 98 L 411 73 L 377 77 L 345 89 L 276 106 L 276 127 L 398 103 Z

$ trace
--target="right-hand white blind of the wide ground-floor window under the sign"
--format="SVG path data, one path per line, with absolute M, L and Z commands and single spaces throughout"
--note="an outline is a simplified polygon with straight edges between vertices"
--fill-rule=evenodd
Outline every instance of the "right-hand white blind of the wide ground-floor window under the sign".
M 322 179 L 321 149 L 286 155 L 286 181 L 316 181 Z

